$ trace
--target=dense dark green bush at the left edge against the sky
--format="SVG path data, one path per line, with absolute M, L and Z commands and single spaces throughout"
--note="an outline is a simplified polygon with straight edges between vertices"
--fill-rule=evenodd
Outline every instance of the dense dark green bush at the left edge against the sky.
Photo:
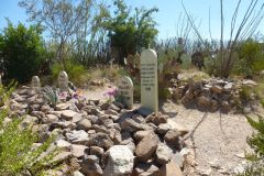
M 37 74 L 45 55 L 40 26 L 13 26 L 9 22 L 0 37 L 0 53 L 8 78 L 25 82 Z

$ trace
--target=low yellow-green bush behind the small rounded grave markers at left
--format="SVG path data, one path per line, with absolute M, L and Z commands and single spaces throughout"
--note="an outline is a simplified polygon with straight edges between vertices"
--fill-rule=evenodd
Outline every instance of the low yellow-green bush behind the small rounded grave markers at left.
M 67 61 L 65 72 L 68 74 L 69 80 L 75 82 L 76 85 L 81 85 L 85 81 L 85 74 L 87 73 L 85 67 L 80 64 L 77 64 L 72 61 Z M 56 63 L 52 66 L 52 75 L 53 79 L 57 80 L 59 72 L 64 70 L 63 65 Z

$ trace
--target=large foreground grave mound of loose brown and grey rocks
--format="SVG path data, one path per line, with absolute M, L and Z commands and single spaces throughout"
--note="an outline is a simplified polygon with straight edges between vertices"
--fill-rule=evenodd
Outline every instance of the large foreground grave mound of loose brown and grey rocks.
M 75 174 L 85 176 L 146 176 L 166 173 L 182 175 L 188 131 L 146 108 L 123 109 L 118 102 L 76 98 L 48 106 L 43 96 L 30 87 L 12 94 L 12 113 L 25 114 L 23 125 L 33 123 L 38 143 L 56 134 L 55 146 L 62 153 L 54 160 L 76 161 Z M 65 175 L 64 169 L 48 170 Z

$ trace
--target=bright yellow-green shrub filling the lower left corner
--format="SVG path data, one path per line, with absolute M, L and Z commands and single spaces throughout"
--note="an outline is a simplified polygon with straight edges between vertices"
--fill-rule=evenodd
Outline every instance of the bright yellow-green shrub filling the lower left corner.
M 11 89 L 6 95 L 10 95 Z M 32 125 L 21 127 L 24 118 L 9 117 L 11 121 L 4 122 L 9 117 L 8 109 L 0 111 L 0 173 L 1 175 L 41 175 L 46 168 L 46 164 L 51 161 L 55 151 L 40 157 L 53 142 L 54 138 L 47 139 L 41 146 L 33 144 L 38 141 L 37 134 L 33 133 Z

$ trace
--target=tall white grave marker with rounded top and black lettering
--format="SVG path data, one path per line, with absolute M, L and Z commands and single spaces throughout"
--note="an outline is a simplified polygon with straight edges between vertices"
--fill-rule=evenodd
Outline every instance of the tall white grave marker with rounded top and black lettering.
M 157 54 L 153 50 L 144 50 L 141 54 L 141 103 L 156 114 L 157 92 Z

